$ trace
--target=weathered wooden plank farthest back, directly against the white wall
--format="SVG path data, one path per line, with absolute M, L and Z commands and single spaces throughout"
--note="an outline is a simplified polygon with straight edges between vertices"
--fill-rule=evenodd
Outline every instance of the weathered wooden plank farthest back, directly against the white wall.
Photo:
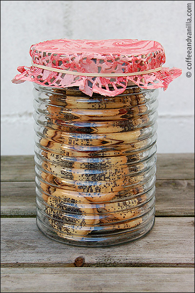
M 194 179 L 194 154 L 157 154 L 157 179 Z M 1 156 L 1 181 L 34 181 L 34 156 Z

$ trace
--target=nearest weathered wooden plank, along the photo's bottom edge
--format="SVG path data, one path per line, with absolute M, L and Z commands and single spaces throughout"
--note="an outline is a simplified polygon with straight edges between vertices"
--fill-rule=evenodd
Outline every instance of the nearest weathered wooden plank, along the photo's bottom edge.
M 1 292 L 194 292 L 193 268 L 3 268 Z

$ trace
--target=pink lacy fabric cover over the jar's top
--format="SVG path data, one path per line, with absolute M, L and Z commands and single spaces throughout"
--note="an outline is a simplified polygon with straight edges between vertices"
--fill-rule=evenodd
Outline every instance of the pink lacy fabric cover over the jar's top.
M 15 84 L 25 81 L 43 86 L 66 88 L 77 86 L 92 96 L 98 93 L 114 97 L 121 94 L 132 82 L 142 88 L 167 89 L 182 73 L 179 68 L 162 67 L 160 71 L 136 75 L 136 72 L 158 68 L 165 63 L 164 48 L 156 41 L 138 40 L 52 40 L 34 44 L 30 48 L 32 62 L 78 73 L 122 74 L 133 76 L 97 77 L 59 73 L 35 66 L 19 66 L 20 74 L 12 80 Z

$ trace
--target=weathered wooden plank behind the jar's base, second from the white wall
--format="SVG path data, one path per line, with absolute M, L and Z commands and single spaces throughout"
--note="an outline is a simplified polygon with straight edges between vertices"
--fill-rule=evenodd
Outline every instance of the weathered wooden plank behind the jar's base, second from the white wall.
M 34 182 L 1 182 L 1 215 L 35 216 Z M 157 216 L 193 216 L 194 180 L 156 180 Z

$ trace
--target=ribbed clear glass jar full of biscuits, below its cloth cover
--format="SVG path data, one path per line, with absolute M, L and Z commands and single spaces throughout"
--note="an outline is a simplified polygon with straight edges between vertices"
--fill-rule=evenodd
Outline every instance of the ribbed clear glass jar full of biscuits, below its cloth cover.
M 157 89 L 92 97 L 34 84 L 37 225 L 79 246 L 140 238 L 155 222 Z

